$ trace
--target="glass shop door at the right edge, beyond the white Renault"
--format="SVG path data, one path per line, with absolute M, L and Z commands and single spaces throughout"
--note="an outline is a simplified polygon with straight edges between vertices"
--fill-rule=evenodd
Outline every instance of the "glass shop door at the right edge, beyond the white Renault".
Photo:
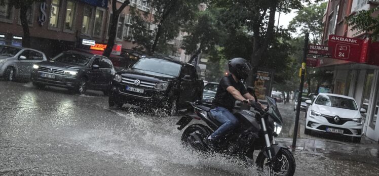
M 369 111 L 367 112 L 367 130 L 366 136 L 372 140 L 379 140 L 379 123 L 377 122 L 378 110 L 379 110 L 379 76 L 378 70 L 375 71 L 374 84 L 373 86 L 373 99 L 370 101 Z M 369 115 L 368 115 L 369 114 Z

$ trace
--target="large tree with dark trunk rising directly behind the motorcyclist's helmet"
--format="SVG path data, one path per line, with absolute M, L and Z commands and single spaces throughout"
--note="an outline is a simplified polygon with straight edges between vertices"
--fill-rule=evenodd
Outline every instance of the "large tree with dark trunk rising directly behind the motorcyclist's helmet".
M 249 57 L 253 71 L 247 79 L 247 85 L 253 84 L 258 65 L 264 58 L 270 43 L 275 36 L 275 13 L 289 13 L 292 9 L 300 9 L 301 2 L 307 0 L 213 0 L 212 4 L 227 9 L 226 13 L 231 28 L 246 27 L 251 33 L 252 53 Z M 228 25 L 227 25 L 228 26 Z

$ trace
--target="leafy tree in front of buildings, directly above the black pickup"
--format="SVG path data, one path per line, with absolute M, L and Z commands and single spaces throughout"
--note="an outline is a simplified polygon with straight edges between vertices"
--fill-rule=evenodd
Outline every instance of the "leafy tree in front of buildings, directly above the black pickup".
M 199 4 L 202 0 L 155 0 L 150 2 L 154 9 L 153 21 L 146 20 L 147 14 L 140 14 L 137 10 L 133 13 L 133 43 L 135 49 L 144 50 L 148 54 L 155 52 L 165 53 L 168 49 L 167 42 L 174 39 L 180 29 L 187 24 L 192 24 Z

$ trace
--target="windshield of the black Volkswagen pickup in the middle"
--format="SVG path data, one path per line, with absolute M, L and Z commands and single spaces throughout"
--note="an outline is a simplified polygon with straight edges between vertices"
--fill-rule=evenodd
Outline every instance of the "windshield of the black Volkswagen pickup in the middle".
M 176 77 L 179 75 L 181 65 L 163 59 L 141 58 L 132 66 L 132 68 Z

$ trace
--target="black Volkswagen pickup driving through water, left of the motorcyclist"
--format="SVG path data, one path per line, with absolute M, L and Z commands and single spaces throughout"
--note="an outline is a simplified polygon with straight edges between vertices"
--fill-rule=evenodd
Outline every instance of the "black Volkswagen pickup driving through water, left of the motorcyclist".
M 109 106 L 124 103 L 163 107 L 169 115 L 190 107 L 186 101 L 201 100 L 204 83 L 195 67 L 171 59 L 143 57 L 115 74 L 110 85 Z

